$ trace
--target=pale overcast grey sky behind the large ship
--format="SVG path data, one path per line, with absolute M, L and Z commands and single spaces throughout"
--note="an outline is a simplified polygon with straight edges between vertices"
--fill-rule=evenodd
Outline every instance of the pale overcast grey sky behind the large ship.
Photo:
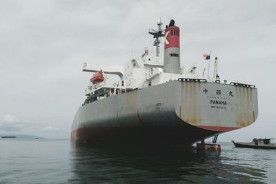
M 0 134 L 70 138 L 91 76 L 82 63 L 124 65 L 145 47 L 154 52 L 148 29 L 161 18 L 181 29 L 182 66 L 201 74 L 211 50 L 221 79 L 258 88 L 257 121 L 218 141 L 276 138 L 275 8 L 273 0 L 0 0 Z

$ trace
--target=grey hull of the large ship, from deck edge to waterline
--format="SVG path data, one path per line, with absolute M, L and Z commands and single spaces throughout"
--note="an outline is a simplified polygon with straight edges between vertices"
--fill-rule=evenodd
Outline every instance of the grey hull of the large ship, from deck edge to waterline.
M 190 145 L 246 127 L 257 112 L 255 88 L 170 81 L 82 105 L 71 140 Z

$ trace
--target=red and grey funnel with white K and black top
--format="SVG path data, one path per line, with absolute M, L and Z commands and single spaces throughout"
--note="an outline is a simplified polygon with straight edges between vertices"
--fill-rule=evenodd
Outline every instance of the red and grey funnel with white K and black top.
M 179 27 L 171 20 L 165 30 L 164 72 L 179 74 L 180 69 L 180 44 Z

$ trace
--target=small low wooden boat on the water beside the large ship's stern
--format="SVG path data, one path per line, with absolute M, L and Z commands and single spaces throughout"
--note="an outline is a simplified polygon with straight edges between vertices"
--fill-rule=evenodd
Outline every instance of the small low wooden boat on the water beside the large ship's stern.
M 232 141 L 235 147 L 247 147 L 256 149 L 276 149 L 276 139 L 253 139 L 251 143 L 239 143 Z

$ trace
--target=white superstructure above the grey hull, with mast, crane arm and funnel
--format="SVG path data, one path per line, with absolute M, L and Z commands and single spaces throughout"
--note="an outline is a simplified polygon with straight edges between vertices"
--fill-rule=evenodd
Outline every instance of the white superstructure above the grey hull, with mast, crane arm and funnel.
M 186 66 L 182 68 L 178 68 L 177 66 L 173 69 L 166 68 L 166 72 L 164 71 L 164 63 L 166 65 L 170 65 L 170 62 L 175 62 L 176 65 L 180 65 L 180 54 L 179 54 L 179 28 L 174 25 L 174 21 L 172 25 L 167 25 L 166 30 L 161 29 L 161 21 L 157 22 L 158 30 L 152 30 L 149 32 L 155 38 L 155 42 L 153 45 L 156 46 L 156 54 L 149 55 L 148 48 L 145 48 L 144 54 L 141 55 L 138 59 L 132 59 L 130 62 L 126 63 L 126 65 L 101 65 L 101 64 L 90 64 L 87 62 L 83 63 L 83 71 L 85 72 L 97 72 L 102 70 L 105 74 L 116 74 L 120 77 L 121 81 L 116 83 L 117 88 L 146 88 L 150 85 L 157 85 L 160 83 L 166 83 L 168 81 L 175 81 L 179 78 L 185 79 L 206 79 L 206 81 L 216 81 L 216 78 L 210 78 L 208 76 L 199 76 L 195 73 L 196 66 Z M 173 35 L 173 31 L 177 30 L 177 34 Z M 172 34 L 170 34 L 170 31 Z M 175 36 L 175 37 L 173 37 Z M 159 57 L 159 37 L 165 37 L 165 52 L 164 60 Z M 178 45 L 170 46 L 170 43 L 177 42 Z M 177 51 L 175 51 L 177 50 Z M 170 52 L 172 53 L 172 57 L 170 57 Z M 175 55 L 173 55 L 175 54 Z M 176 60 L 175 60 L 176 59 Z M 99 86 L 106 85 L 106 81 L 103 81 L 101 84 L 95 84 L 88 86 L 86 90 L 86 94 L 95 91 Z M 112 86 L 110 86 L 112 87 Z M 114 87 L 114 86 L 113 86 Z

